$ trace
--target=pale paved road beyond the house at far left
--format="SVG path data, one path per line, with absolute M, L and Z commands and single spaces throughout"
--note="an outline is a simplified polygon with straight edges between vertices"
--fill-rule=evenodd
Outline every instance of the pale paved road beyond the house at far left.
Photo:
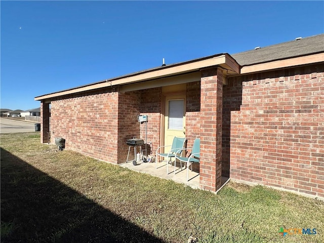
M 0 118 L 0 133 L 35 132 L 35 123 L 28 121 Z

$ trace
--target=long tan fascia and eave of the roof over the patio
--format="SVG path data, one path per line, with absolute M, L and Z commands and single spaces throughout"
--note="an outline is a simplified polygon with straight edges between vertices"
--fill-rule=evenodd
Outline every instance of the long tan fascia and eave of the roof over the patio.
M 102 80 L 101 82 L 80 86 L 68 90 L 63 90 L 51 94 L 37 96 L 34 100 L 38 101 L 50 101 L 53 98 L 71 95 L 76 93 L 83 93 L 97 89 L 110 88 L 114 86 L 124 86 L 135 84 L 139 82 L 152 81 L 154 79 L 173 77 L 182 74 L 193 73 L 200 69 L 209 67 L 222 67 L 224 69 L 224 75 L 238 74 L 239 65 L 238 63 L 227 53 L 213 55 L 205 58 L 199 58 L 192 61 L 166 65 L 150 70 L 144 70 L 141 72 L 115 77 L 111 79 Z

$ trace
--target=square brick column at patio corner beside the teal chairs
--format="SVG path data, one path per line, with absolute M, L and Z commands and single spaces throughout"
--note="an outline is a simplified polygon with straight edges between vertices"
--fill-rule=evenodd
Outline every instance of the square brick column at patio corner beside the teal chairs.
M 201 70 L 200 187 L 216 191 L 222 178 L 223 72 Z

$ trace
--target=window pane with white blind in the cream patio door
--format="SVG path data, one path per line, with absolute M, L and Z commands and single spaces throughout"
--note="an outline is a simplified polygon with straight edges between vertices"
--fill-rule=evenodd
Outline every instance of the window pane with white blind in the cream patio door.
M 184 100 L 169 100 L 169 129 L 182 130 Z

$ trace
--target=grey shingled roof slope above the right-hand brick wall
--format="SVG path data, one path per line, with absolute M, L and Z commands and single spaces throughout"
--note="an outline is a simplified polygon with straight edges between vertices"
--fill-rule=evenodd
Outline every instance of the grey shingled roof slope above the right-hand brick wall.
M 231 54 L 241 66 L 324 52 L 324 34 Z

